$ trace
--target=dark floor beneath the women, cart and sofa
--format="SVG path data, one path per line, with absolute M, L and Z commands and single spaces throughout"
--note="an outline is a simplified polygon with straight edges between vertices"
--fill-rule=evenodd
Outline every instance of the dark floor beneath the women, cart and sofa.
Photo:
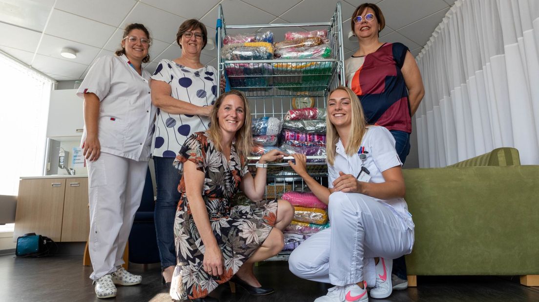
M 171 301 L 161 285 L 156 264 L 146 270 L 132 264 L 129 271 L 143 276 L 142 284 L 118 286 L 114 299 L 95 298 L 88 276 L 91 267 L 82 266 L 82 256 L 13 258 L 0 256 L 0 301 Z M 232 294 L 221 285 L 210 294 L 220 301 L 313 301 L 326 294 L 329 285 L 299 279 L 286 262 L 265 262 L 255 268 L 262 285 L 273 286 L 269 296 L 251 297 L 238 289 Z M 526 287 L 518 277 L 459 276 L 418 277 L 418 287 L 393 292 L 389 299 L 371 301 L 539 301 L 539 287 Z

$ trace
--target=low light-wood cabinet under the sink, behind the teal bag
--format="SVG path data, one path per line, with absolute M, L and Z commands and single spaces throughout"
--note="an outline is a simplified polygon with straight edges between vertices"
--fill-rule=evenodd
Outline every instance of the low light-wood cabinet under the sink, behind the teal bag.
M 36 233 L 61 241 L 86 241 L 89 233 L 88 179 L 21 179 L 13 239 Z

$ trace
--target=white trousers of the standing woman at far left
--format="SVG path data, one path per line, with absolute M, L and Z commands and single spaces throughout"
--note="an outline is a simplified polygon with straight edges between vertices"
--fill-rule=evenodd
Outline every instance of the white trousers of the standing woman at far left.
M 147 161 L 109 153 L 88 161 L 88 250 L 93 280 L 116 271 L 124 263 L 123 251 L 140 206 L 147 169 Z

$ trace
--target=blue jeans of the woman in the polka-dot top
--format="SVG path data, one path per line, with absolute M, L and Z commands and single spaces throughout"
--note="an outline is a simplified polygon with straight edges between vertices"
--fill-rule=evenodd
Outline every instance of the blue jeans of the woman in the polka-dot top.
M 172 166 L 172 162 L 174 162 L 174 157 L 154 156 L 157 185 L 154 222 L 162 268 L 176 265 L 174 218 L 180 196 L 178 184 L 182 175 Z

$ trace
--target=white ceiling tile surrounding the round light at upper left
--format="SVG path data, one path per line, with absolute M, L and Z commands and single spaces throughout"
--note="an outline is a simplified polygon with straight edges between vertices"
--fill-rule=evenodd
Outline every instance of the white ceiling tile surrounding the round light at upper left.
M 66 59 L 60 55 L 60 51 L 63 47 L 69 47 L 77 52 L 75 59 Z M 43 35 L 43 39 L 37 50 L 38 54 L 56 57 L 60 60 L 67 60 L 70 62 L 90 64 L 95 59 L 95 56 L 99 53 L 100 48 L 80 44 L 66 39 L 53 37 L 52 35 Z

